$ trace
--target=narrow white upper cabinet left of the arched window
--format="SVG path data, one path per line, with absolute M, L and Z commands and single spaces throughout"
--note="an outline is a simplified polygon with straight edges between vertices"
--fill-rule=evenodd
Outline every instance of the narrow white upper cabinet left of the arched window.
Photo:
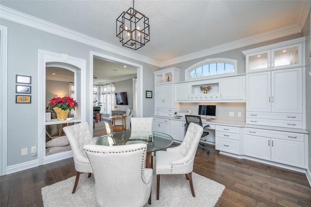
M 174 82 L 179 81 L 180 69 L 155 71 L 155 116 L 174 116 Z

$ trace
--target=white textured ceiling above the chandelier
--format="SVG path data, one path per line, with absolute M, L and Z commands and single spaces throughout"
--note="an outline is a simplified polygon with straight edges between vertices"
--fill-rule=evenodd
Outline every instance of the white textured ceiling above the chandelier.
M 131 0 L 0 0 L 0 4 L 125 49 L 116 19 Z M 136 52 L 158 62 L 295 25 L 310 12 L 302 0 L 136 0 L 149 17 L 150 42 Z

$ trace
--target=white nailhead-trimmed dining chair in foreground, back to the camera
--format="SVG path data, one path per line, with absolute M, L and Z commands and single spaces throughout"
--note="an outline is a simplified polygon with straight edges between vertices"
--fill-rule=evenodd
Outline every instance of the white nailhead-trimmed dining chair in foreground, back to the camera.
M 147 145 L 86 145 L 100 207 L 142 207 L 151 204 L 152 169 L 145 168 Z M 105 170 L 103 170 L 105 169 Z

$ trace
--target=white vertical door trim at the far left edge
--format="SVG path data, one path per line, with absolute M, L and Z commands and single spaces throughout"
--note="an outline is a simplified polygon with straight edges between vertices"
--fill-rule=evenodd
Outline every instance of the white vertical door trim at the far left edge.
M 0 175 L 7 168 L 7 27 L 0 25 Z

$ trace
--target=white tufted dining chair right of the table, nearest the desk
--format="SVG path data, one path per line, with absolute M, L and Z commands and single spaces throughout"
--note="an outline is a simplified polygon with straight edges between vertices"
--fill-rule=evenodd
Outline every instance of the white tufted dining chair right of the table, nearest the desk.
M 159 200 L 161 174 L 186 174 L 186 178 L 189 180 L 192 196 L 195 197 L 191 173 L 193 170 L 195 153 L 202 133 L 202 126 L 190 123 L 185 138 L 179 146 L 167 148 L 166 151 L 156 152 L 155 173 L 157 200 Z

